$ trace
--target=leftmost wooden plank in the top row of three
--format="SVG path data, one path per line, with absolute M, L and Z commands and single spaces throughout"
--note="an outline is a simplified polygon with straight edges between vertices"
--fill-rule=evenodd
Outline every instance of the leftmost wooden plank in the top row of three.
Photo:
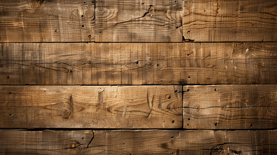
M 0 42 L 91 42 L 93 1 L 0 1 Z

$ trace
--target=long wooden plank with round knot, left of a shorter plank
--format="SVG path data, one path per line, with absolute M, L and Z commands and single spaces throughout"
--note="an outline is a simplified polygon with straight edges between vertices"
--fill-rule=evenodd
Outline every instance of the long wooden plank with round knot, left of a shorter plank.
M 1 128 L 182 128 L 182 86 L 1 86 Z

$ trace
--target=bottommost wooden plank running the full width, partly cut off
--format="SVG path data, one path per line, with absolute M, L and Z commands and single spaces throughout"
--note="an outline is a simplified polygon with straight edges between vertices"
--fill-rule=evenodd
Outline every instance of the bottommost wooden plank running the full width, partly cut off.
M 0 129 L 4 154 L 276 154 L 276 130 L 20 131 Z

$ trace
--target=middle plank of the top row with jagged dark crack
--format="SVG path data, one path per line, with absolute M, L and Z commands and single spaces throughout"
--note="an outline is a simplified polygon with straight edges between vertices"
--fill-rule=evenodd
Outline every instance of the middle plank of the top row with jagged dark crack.
M 96 42 L 182 42 L 182 0 L 96 0 Z

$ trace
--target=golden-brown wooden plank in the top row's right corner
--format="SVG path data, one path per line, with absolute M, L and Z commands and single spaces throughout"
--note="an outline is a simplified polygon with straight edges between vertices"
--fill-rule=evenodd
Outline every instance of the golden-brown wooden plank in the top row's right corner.
M 196 42 L 276 42 L 275 0 L 185 0 L 183 36 Z

